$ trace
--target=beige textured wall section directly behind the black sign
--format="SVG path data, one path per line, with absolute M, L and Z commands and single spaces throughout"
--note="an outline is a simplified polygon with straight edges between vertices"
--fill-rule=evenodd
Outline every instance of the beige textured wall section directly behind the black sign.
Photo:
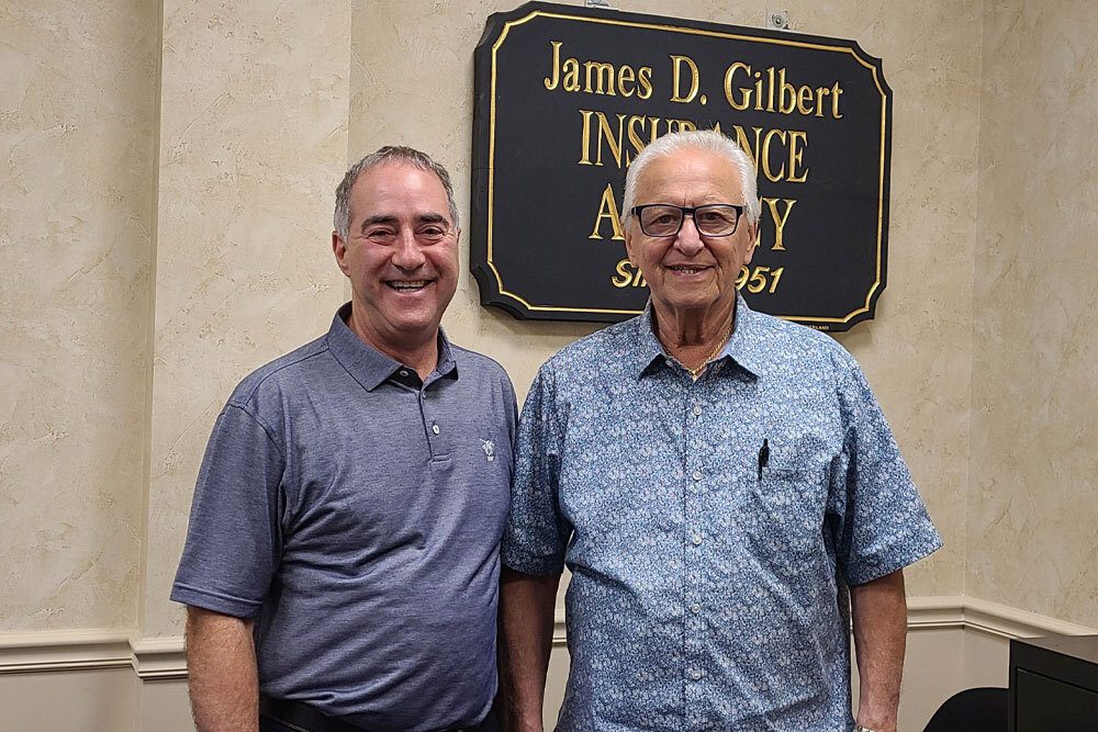
M 455 176 L 469 211 L 472 48 L 484 20 L 513 0 L 446 5 L 356 2 L 350 149 L 393 139 L 421 146 Z M 619 0 L 620 10 L 673 12 L 759 26 L 773 3 Z M 885 59 L 895 91 L 888 288 L 878 319 L 840 340 L 862 362 L 911 465 L 945 549 L 910 573 L 914 594 L 961 592 L 968 451 L 968 369 L 975 236 L 979 24 L 975 3 L 787 0 L 794 30 L 853 37 Z M 927 29 L 934 29 L 928 33 Z M 541 362 L 597 326 L 524 323 L 480 306 L 468 273 L 444 322 L 451 337 L 500 360 L 519 394 Z

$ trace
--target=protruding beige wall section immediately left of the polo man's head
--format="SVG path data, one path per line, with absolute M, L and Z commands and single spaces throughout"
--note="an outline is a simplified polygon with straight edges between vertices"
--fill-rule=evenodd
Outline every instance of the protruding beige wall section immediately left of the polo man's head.
M 167 597 L 229 392 L 344 300 L 349 32 L 345 0 L 164 5 L 146 635 L 182 630 Z

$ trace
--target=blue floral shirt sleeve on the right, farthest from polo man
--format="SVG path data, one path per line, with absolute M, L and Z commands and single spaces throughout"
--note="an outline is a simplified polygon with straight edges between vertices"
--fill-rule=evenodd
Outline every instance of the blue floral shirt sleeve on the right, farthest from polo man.
M 832 465 L 828 510 L 836 559 L 849 585 L 900 570 L 937 551 L 942 539 L 911 481 L 861 369 L 845 364 L 839 384 L 845 426 Z

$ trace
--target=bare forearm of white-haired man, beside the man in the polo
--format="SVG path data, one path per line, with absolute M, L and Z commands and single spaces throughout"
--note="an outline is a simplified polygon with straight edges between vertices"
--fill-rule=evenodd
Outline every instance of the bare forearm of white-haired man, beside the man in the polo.
M 500 575 L 500 695 L 504 729 L 541 732 L 560 575 L 503 567 Z

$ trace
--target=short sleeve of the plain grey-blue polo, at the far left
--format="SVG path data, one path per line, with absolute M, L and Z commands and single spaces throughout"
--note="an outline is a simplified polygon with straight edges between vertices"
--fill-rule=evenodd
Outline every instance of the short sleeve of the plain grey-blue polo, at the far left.
M 250 413 L 225 407 L 199 472 L 172 600 L 238 618 L 259 611 L 281 551 L 284 464 Z

